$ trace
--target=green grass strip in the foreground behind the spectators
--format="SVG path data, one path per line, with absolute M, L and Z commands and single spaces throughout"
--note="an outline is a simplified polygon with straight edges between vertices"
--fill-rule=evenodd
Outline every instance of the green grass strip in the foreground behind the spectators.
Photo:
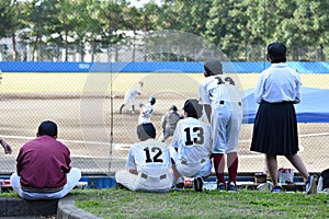
M 101 218 L 329 218 L 329 196 L 172 191 L 164 194 L 126 189 L 75 189 L 76 206 Z

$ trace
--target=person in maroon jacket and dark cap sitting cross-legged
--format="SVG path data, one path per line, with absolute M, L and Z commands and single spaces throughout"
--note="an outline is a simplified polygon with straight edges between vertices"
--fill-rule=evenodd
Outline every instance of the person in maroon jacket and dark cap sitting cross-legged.
M 27 141 L 10 177 L 13 189 L 25 199 L 56 199 L 66 196 L 79 182 L 80 170 L 70 166 L 70 151 L 58 140 L 57 125 L 45 120 L 36 138 Z

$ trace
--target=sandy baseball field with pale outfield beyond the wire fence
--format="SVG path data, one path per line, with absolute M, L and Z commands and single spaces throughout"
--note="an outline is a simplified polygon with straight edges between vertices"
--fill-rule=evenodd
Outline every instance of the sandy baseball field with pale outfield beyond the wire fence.
M 254 88 L 258 73 L 235 74 L 241 91 Z M 171 105 L 182 107 L 189 97 L 198 97 L 202 73 L 2 73 L 1 131 L 13 148 L 4 155 L 0 173 L 15 170 L 20 147 L 34 138 L 42 120 L 58 124 L 58 138 L 71 150 L 72 165 L 83 173 L 113 174 L 123 169 L 129 146 L 137 141 L 138 113 L 129 112 L 131 105 L 118 114 L 126 90 L 144 81 L 143 94 L 136 107 L 154 95 L 157 99 L 151 118 L 161 134 L 161 116 Z M 329 89 L 329 74 L 302 74 L 302 85 Z M 310 172 L 328 168 L 328 124 L 298 124 L 299 154 Z M 239 172 L 263 170 L 263 155 L 249 151 L 252 124 L 243 124 L 239 141 Z M 168 140 L 168 143 L 170 143 Z M 285 159 L 279 165 L 292 168 Z

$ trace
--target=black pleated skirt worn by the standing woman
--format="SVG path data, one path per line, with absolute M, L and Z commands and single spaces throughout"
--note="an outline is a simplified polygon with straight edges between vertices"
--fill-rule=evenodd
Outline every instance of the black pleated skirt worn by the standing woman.
M 251 151 L 271 155 L 296 154 L 298 130 L 292 102 L 262 102 L 258 108 L 251 140 Z

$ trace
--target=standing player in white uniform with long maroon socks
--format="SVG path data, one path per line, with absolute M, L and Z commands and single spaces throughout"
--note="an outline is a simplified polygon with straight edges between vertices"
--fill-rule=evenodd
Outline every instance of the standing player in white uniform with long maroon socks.
M 224 178 L 227 154 L 229 192 L 237 192 L 238 140 L 242 123 L 241 95 L 232 76 L 223 74 L 219 60 L 204 65 L 205 79 L 200 85 L 200 104 L 204 105 L 212 125 L 214 169 L 219 191 L 226 189 Z

